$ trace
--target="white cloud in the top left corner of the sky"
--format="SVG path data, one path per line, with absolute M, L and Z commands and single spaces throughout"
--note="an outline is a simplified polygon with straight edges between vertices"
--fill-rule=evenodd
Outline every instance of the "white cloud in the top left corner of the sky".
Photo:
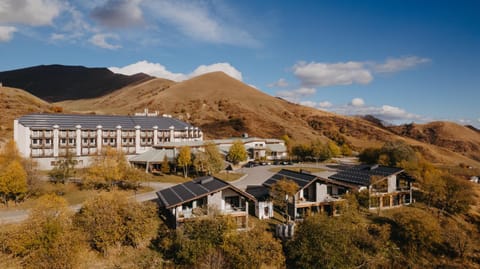
M 0 1 L 0 23 L 51 25 L 61 9 L 61 2 L 56 0 L 2 0 Z

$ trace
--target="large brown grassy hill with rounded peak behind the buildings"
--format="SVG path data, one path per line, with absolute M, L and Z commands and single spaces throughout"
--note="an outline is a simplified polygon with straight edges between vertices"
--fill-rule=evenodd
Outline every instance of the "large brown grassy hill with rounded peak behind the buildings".
M 336 115 L 272 97 L 221 72 L 179 83 L 154 79 L 99 98 L 64 101 L 58 105 L 76 112 L 108 114 L 149 108 L 200 126 L 208 138 L 242 133 L 260 137 L 288 134 L 297 142 L 343 139 L 357 149 L 403 139 L 432 161 L 478 165 L 477 161 L 448 148 L 401 137 L 361 118 Z

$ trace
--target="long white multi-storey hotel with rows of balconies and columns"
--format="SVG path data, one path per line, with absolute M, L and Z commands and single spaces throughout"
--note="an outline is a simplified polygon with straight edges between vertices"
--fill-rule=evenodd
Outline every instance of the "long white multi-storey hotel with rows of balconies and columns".
M 30 114 L 14 120 L 14 140 L 23 157 L 35 159 L 46 170 L 67 151 L 82 167 L 105 147 L 131 157 L 160 143 L 201 141 L 203 133 L 168 115 Z

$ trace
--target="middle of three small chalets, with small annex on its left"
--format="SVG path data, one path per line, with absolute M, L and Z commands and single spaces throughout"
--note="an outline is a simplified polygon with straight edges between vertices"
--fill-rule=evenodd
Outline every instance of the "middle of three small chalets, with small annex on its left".
M 341 195 L 353 188 L 353 185 L 337 182 L 307 173 L 282 169 L 262 186 L 248 186 L 246 191 L 257 199 L 256 215 L 260 219 L 273 217 L 273 205 L 269 191 L 279 180 L 287 179 L 295 182 L 299 189 L 288 200 L 288 215 L 292 220 L 300 220 L 308 215 L 324 212 L 328 215 L 337 214 L 337 205 L 343 201 Z

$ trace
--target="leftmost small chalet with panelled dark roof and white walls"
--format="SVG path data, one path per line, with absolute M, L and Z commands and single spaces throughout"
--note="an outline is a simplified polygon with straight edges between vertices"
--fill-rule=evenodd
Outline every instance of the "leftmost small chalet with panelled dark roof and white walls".
M 250 194 L 212 176 L 196 178 L 157 192 L 159 208 L 171 227 L 216 214 L 232 217 L 239 229 L 248 227 Z

